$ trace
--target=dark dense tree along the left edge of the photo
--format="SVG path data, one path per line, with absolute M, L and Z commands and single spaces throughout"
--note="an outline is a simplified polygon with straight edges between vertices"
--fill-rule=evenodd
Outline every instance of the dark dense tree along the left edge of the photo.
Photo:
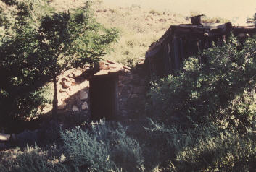
M 49 79 L 34 33 L 49 12 L 44 1 L 0 1 L 1 126 L 24 120 L 44 102 L 40 87 Z

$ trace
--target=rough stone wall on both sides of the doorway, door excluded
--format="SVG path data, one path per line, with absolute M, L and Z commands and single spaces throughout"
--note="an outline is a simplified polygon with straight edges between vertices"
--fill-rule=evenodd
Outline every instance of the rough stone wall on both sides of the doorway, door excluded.
M 71 69 L 58 77 L 58 113 L 81 113 L 90 119 L 89 81 L 80 69 Z M 138 116 L 144 111 L 146 80 L 139 72 L 125 70 L 118 75 L 117 119 Z

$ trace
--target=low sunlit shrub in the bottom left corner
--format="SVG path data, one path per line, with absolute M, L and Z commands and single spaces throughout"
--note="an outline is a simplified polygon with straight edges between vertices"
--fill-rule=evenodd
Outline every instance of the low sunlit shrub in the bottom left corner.
M 55 148 L 44 151 L 35 146 L 26 147 L 23 151 L 16 148 L 9 152 L 2 152 L 0 157 L 3 163 L 0 164 L 0 171 L 69 171 L 69 169 L 61 163 L 65 160 L 63 155 L 59 158 L 50 155 L 54 151 L 56 151 Z

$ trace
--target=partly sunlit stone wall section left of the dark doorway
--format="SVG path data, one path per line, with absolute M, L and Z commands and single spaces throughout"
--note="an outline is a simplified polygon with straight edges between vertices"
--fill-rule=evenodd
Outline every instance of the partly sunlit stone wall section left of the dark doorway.
M 94 69 L 70 69 L 58 77 L 58 115 L 62 122 L 73 122 L 73 119 L 90 119 L 89 111 L 89 81 L 88 76 L 94 74 Z M 39 119 L 51 119 L 51 105 L 46 105 L 38 109 L 38 113 L 43 115 Z M 72 117 L 71 117 L 72 116 Z M 67 118 L 67 120 L 66 120 Z M 40 120 L 39 120 L 40 121 Z

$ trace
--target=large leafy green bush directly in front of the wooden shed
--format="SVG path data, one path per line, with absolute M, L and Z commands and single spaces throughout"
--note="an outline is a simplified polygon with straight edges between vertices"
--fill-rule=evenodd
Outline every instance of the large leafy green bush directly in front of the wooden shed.
M 187 59 L 176 76 L 152 82 L 154 113 L 184 126 L 225 119 L 245 132 L 255 121 L 255 48 L 255 38 L 241 46 L 231 37 Z M 199 59 L 206 62 L 200 64 Z

